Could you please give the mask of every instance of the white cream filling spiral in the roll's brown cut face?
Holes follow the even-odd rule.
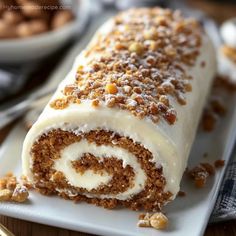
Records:
[[[98,158],[115,157],[122,160],[123,167],[126,167],[127,165],[131,166],[135,173],[133,186],[125,192],[121,192],[116,195],[86,194],[86,196],[126,200],[144,189],[147,177],[144,170],[141,168],[140,163],[137,161],[137,158],[132,153],[120,147],[112,147],[107,145],[97,146],[95,143],[89,143],[87,140],[81,140],[80,142],[67,146],[61,151],[61,158],[55,160],[54,162],[53,168],[57,171],[61,171],[72,186],[85,188],[90,191],[98,188],[102,184],[108,184],[112,179],[112,176],[106,172],[103,172],[102,174],[95,173],[92,170],[86,170],[83,174],[76,172],[76,170],[72,167],[71,162],[79,160],[84,153],[90,153]]]

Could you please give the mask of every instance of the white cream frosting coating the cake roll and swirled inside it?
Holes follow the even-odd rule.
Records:
[[[104,28],[108,30],[110,24],[110,21],[106,23],[97,34],[102,33]],[[91,43],[93,43],[93,41]],[[82,52],[76,59],[71,72],[59,85],[52,100],[62,96],[62,88],[66,84],[70,84],[74,81],[76,68],[81,64],[86,66],[86,60],[87,59],[85,59],[84,53]],[[201,66],[203,61],[206,62],[205,67]],[[158,124],[154,124],[149,119],[140,120],[128,111],[120,110],[118,108],[111,109],[104,104],[98,108],[94,108],[90,105],[90,101],[83,101],[81,104],[70,104],[69,107],[63,110],[55,110],[47,105],[26,136],[22,153],[24,174],[32,180],[33,175],[31,173],[32,163],[30,150],[33,143],[40,135],[56,128],[74,133],[89,132],[101,128],[108,131],[114,131],[121,136],[129,137],[134,142],[140,143],[148,149],[153,155],[152,161],[155,162],[157,166],[161,165],[163,167],[163,174],[166,179],[165,190],[170,191],[173,196],[175,196],[179,191],[180,181],[186,168],[190,148],[195,137],[197,125],[212,78],[215,74],[215,69],[214,48],[208,37],[204,35],[203,43],[200,48],[200,56],[197,59],[196,65],[193,67],[186,67],[187,73],[194,78],[191,81],[193,91],[186,94],[187,105],[182,106],[170,97],[170,102],[177,111],[177,121],[174,125],[169,125],[164,120],[160,120]],[[62,160],[58,160],[55,164],[58,170],[63,169],[62,166],[67,163],[65,155],[69,159],[79,158],[83,152],[88,151],[88,145],[82,145],[81,142],[74,145],[79,145],[80,147],[80,150],[76,151],[78,155],[75,156],[73,146],[69,146],[69,149],[66,149],[67,151],[62,153]],[[106,151],[107,155],[109,155],[113,152],[112,149],[113,148],[110,147],[104,147],[104,150],[95,148],[94,154],[99,156],[98,153]],[[114,149],[114,151],[115,150],[116,149]],[[125,152],[125,150],[122,151]],[[113,154],[117,158],[121,158],[119,152],[113,152]],[[125,158],[125,160],[123,158]],[[126,153],[121,159],[133,166],[137,164],[137,162],[133,162],[133,157],[130,156],[130,153]],[[67,168],[66,173],[68,173],[68,171]],[[143,183],[146,178],[145,174],[139,175],[139,173],[142,173],[142,170],[139,168],[137,168],[136,171],[137,179],[135,180],[135,183],[138,184],[138,179]],[[93,182],[92,180],[97,176],[95,177],[92,172],[87,172],[87,178],[74,174],[68,174],[67,178],[70,181],[75,181],[74,183],[78,185],[82,184],[83,181],[72,180],[73,178],[87,179],[87,183],[83,184],[84,186],[87,186],[86,188],[88,189],[92,186],[97,186],[99,182],[106,182],[110,178],[110,176],[105,176],[104,178],[99,177],[99,181],[95,180]],[[135,191],[140,191],[140,189],[138,190],[138,185],[137,189],[132,191],[128,192],[128,194],[127,192],[123,193],[126,194],[123,196],[116,196],[116,198],[121,197],[125,199],[129,197],[129,194],[131,196]],[[98,197],[102,198],[104,196],[99,195]]]

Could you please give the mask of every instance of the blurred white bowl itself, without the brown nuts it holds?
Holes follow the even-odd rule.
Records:
[[[22,63],[43,58],[79,35],[89,17],[90,1],[80,0],[75,19],[65,26],[25,39],[0,40],[0,63]],[[75,9],[73,9],[75,10]]]

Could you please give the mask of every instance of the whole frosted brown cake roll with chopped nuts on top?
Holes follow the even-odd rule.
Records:
[[[215,68],[195,20],[161,8],[119,13],[29,130],[24,174],[43,194],[160,210],[179,191]]]

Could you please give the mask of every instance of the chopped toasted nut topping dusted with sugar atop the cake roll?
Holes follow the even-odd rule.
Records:
[[[78,65],[75,82],[62,95],[66,101],[68,96],[81,102],[98,99],[102,106],[128,110],[140,119],[174,124],[177,113],[170,97],[186,104],[185,94],[192,90],[186,68],[196,62],[201,35],[198,23],[178,11],[120,13],[110,31],[98,33],[87,48],[86,64]]]

